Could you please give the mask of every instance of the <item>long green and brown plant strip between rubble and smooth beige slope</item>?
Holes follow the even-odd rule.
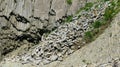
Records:
[[[106,0],[107,1],[107,0]],[[95,40],[106,29],[112,18],[120,11],[120,0],[117,2],[111,1],[110,6],[106,8],[104,19],[92,23],[92,30],[85,32],[84,41],[89,43]]]

